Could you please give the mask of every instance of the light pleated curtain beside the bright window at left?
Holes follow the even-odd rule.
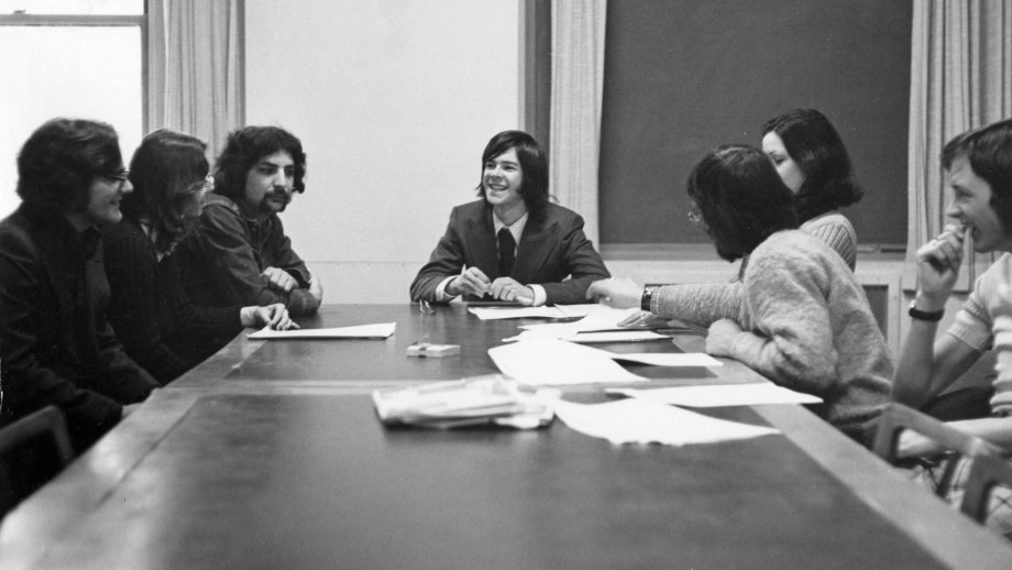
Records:
[[[243,0],[147,0],[147,128],[208,143],[218,155],[244,119]]]

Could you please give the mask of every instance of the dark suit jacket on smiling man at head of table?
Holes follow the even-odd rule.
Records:
[[[476,200],[453,208],[447,233],[440,238],[415,282],[411,300],[436,300],[436,287],[463,266],[476,266],[490,279],[499,277],[498,250],[492,207]],[[524,285],[541,285],[548,304],[586,303],[591,283],[609,277],[594,244],[583,234],[583,218],[548,204],[527,219],[517,248],[517,260],[508,275]],[[565,279],[566,276],[572,278]]]

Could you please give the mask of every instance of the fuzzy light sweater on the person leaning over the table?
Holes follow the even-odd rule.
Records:
[[[664,317],[674,317],[666,308],[675,287],[654,293]],[[744,331],[732,355],[777,384],[822,397],[826,420],[870,442],[894,366],[854,272],[822,240],[784,230],[752,251],[740,287],[732,318]]]

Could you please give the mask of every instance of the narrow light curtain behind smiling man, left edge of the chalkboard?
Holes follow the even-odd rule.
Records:
[[[597,241],[597,164],[607,0],[552,0],[549,188]]]

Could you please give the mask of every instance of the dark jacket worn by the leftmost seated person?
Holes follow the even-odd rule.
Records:
[[[23,204],[0,222],[0,425],[55,404],[81,450],[161,385],[123,352],[108,302],[97,230]]]

